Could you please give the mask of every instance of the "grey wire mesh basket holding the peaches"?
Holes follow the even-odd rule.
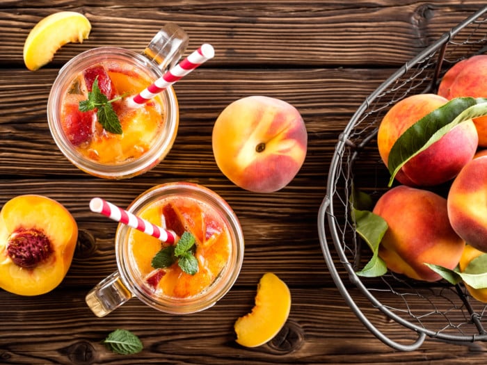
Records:
[[[471,298],[462,284],[453,286],[445,280],[417,282],[390,271],[376,278],[358,277],[356,271],[372,252],[350,219],[352,184],[373,197],[383,194],[390,176],[378,155],[376,132],[385,113],[404,97],[436,92],[452,65],[486,51],[487,6],[442,35],[369,95],[341,133],[330,163],[318,216],[326,264],[354,314],[378,339],[397,350],[416,350],[428,336],[453,343],[486,341],[487,305]],[[411,330],[412,339],[394,341],[385,332],[397,334],[397,328],[379,330],[369,320],[377,317],[376,311],[392,319],[394,327]]]

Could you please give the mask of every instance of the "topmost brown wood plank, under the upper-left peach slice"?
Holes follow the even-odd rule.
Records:
[[[47,2],[49,3],[49,2]],[[132,6],[99,3],[60,3],[56,10],[75,10],[94,24],[90,39],[67,44],[49,67],[59,67],[79,52],[116,45],[141,51],[165,22],[182,26],[190,35],[190,49],[209,42],[216,49],[214,65],[276,67],[276,65],[401,65],[426,45],[484,6],[483,1],[402,2],[239,1],[204,3],[153,1]],[[8,6],[8,8],[6,8]],[[10,10],[13,9],[13,10]],[[0,44],[0,64],[22,65],[22,46],[30,29],[53,13],[51,3],[4,1],[0,30],[8,41]],[[258,14],[258,16],[257,16]],[[312,16],[310,16],[312,14]],[[438,21],[437,19],[441,19]],[[319,31],[317,31],[319,29]],[[282,36],[285,35],[285,36]],[[371,47],[371,45],[374,47]]]

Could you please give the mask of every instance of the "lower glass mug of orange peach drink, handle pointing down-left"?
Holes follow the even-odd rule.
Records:
[[[139,195],[127,211],[173,231],[179,240],[164,243],[120,224],[115,236],[118,270],[86,296],[97,316],[133,297],[166,313],[193,313],[214,305],[233,286],[244,259],[244,236],[237,216],[220,195],[199,184],[161,184]],[[196,262],[194,272],[177,255],[165,266],[154,265],[162,250],[177,252],[187,235],[193,239],[186,252]]]

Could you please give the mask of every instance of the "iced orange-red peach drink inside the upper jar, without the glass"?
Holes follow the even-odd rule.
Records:
[[[80,111],[97,80],[99,90],[109,100],[136,95],[151,79],[129,63],[106,60],[79,72],[61,95],[61,127],[74,149],[96,163],[118,165],[147,153],[163,130],[164,104],[158,95],[140,108],[129,108],[126,99],[112,102],[122,133],[106,131],[97,120],[96,110]]]

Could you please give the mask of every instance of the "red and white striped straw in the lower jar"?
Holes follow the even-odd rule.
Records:
[[[94,213],[102,213],[116,222],[123,223],[129,227],[138,229],[145,234],[159,238],[161,241],[172,245],[176,241],[176,234],[169,229],[163,229],[158,225],[154,225],[148,220],[135,216],[134,214],[119,208],[111,202],[107,202],[100,197],[94,197],[90,201],[90,210]]]

